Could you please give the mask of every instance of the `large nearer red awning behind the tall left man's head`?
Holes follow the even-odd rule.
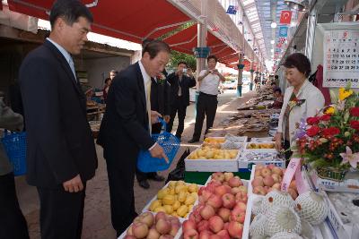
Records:
[[[8,0],[13,12],[48,20],[54,0]],[[141,43],[144,38],[162,34],[190,21],[185,13],[165,0],[83,0],[93,14],[94,32]],[[93,6],[92,6],[93,5]]]

